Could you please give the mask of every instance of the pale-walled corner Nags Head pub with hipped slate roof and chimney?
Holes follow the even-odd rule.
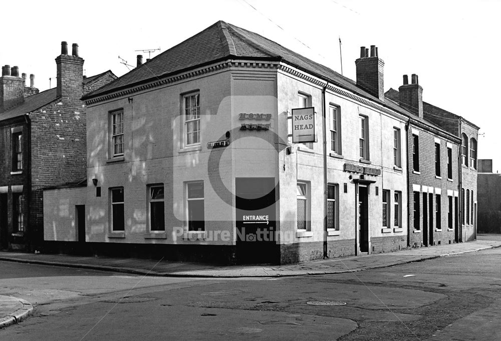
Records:
[[[45,190],[47,247],[228,263],[407,247],[413,113],[385,100],[383,65],[371,46],[355,82],[223,21],[138,62],[83,98],[87,186]],[[299,108],[317,142],[293,143]]]

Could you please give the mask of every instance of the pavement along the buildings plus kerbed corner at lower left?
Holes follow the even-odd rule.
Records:
[[[355,272],[500,246],[501,235],[478,234],[477,240],[469,242],[287,265],[214,265],[139,258],[86,257],[22,252],[0,252],[0,260],[170,277],[283,277]],[[0,317],[0,328],[19,322],[32,312],[33,307],[29,302],[16,297],[0,295],[0,316],[5,316]]]

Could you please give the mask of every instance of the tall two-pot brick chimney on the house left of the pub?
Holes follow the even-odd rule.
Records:
[[[80,100],[83,94],[84,59],[78,56],[78,44],[72,45],[72,55],[68,55],[68,44],[61,42],[61,55],[56,58],[57,96],[63,99]]]

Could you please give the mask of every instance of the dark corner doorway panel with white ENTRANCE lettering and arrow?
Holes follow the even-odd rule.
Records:
[[[236,259],[238,263],[278,263],[275,178],[237,177]]]

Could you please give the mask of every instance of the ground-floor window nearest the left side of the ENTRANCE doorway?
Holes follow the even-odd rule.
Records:
[[[186,215],[188,231],[205,230],[203,181],[186,182]]]

